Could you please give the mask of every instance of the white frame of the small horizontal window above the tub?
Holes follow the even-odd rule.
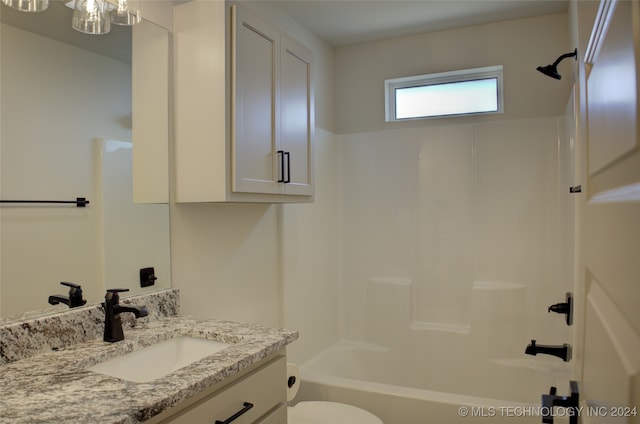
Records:
[[[463,83],[484,79],[496,79],[497,110],[483,112],[461,112],[442,115],[415,116],[410,118],[396,117],[396,90],[411,87],[427,87],[451,83]],[[457,71],[439,72],[435,74],[416,75],[411,77],[392,78],[384,81],[385,122],[404,122],[417,119],[437,119],[460,116],[493,115],[504,113],[504,84],[502,65],[482,68],[461,69]]]

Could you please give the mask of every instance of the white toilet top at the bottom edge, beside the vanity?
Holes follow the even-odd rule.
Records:
[[[289,407],[289,424],[384,424],[371,412],[338,402],[305,401]]]

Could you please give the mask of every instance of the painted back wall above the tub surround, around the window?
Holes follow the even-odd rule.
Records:
[[[572,63],[558,67],[556,81],[536,71],[572,51],[566,14],[497,22],[393,38],[336,49],[336,132],[558,116],[570,89]],[[435,72],[503,65],[503,115],[384,122],[384,80]]]

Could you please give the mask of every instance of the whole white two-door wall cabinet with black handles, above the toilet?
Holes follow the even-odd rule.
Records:
[[[309,49],[251,10],[175,9],[176,200],[309,202]]]

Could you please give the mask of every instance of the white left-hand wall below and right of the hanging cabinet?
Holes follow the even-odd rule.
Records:
[[[173,205],[173,281],[186,314],[299,330],[298,361],[338,337],[333,49],[278,9],[242,3],[313,51],[315,202]]]

